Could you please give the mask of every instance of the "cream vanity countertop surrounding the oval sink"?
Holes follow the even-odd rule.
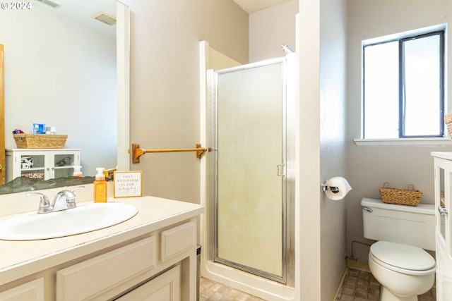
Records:
[[[159,197],[109,198],[108,202],[131,204],[138,208],[138,214],[109,228],[64,238],[0,240],[0,285],[191,219],[204,212],[202,205]],[[90,202],[78,205],[88,203]],[[19,214],[1,216],[0,222],[17,215]]]

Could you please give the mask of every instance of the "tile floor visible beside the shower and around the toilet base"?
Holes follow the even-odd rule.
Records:
[[[201,277],[200,301],[265,301]],[[369,271],[348,269],[335,301],[378,301],[381,285]],[[436,290],[418,297],[419,301],[435,301]]]

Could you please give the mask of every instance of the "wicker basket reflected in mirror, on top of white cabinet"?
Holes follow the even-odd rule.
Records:
[[[63,149],[68,135],[13,134],[19,149]]]

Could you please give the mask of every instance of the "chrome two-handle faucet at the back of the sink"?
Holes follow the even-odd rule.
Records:
[[[27,192],[25,195],[27,197],[32,197],[35,195],[40,196],[40,207],[37,209],[37,214],[61,211],[66,209],[76,208],[76,195],[73,193],[74,190],[83,189],[85,186],[78,186],[71,190],[61,190],[55,195],[52,204],[49,202],[47,195],[40,192]]]

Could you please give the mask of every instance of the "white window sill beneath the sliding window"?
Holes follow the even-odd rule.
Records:
[[[436,146],[452,145],[449,137],[444,138],[399,138],[399,139],[355,139],[355,145],[369,147],[389,146]]]

